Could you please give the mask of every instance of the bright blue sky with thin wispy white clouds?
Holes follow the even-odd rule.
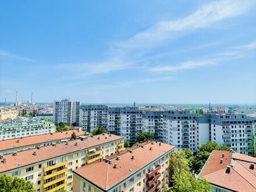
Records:
[[[256,103],[256,2],[5,1],[0,101]]]

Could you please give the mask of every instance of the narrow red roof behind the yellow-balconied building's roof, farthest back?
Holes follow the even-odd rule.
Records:
[[[82,136],[84,135],[84,131],[74,131],[77,136]],[[67,134],[66,134],[67,133]],[[53,134],[40,134],[37,136],[29,136],[29,137],[23,137],[23,138],[15,138],[15,139],[10,139],[10,140],[3,140],[0,141],[0,152],[2,150],[8,150],[11,148],[15,147],[23,147],[26,145],[33,145],[33,144],[38,144],[38,143],[44,143],[46,141],[54,141],[54,140],[61,140],[65,138],[70,138],[71,134],[73,133],[73,130],[71,131],[63,131],[53,133]],[[19,140],[19,143],[17,143],[17,140]]]

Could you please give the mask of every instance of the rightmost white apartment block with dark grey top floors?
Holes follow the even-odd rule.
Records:
[[[254,119],[243,114],[225,114],[211,115],[209,120],[212,141],[251,155],[253,133],[256,131]]]

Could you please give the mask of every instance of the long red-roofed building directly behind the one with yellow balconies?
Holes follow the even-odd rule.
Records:
[[[63,143],[70,140],[73,131],[76,133],[77,137],[84,136],[85,133],[84,131],[71,130],[3,140],[0,141],[0,154],[10,154],[37,147],[45,147],[52,144]]]

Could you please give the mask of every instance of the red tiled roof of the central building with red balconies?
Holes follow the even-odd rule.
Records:
[[[153,150],[150,150],[150,147]],[[144,148],[137,147],[132,153],[126,152],[119,154],[120,159],[112,158],[111,164],[99,161],[76,169],[74,173],[77,173],[77,175],[102,190],[109,190],[116,186],[116,184],[122,182],[122,180],[133,175],[134,172],[144,168],[144,166],[174,148],[175,146],[173,145],[163,143],[161,145],[158,143],[154,143],[153,145],[148,143],[144,145]],[[134,155],[134,159],[131,159],[131,155]],[[117,164],[117,168],[113,168],[115,163]]]

